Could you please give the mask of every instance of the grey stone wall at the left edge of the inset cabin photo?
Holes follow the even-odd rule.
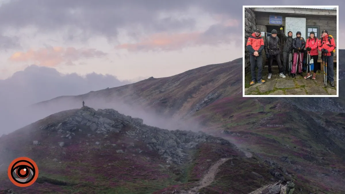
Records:
[[[244,56],[244,61],[245,61],[245,70],[247,70],[250,67],[250,62],[249,62],[249,51],[246,47],[247,45],[247,40],[250,35],[254,32],[256,28],[256,16],[253,11],[253,8],[245,8],[245,13],[244,13],[244,47],[245,47],[245,56]]]

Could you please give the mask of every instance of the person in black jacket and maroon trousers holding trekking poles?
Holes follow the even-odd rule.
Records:
[[[305,40],[301,37],[301,32],[296,33],[296,38],[294,38],[292,42],[292,47],[294,48],[294,62],[292,64],[291,75],[294,78],[296,76],[297,71],[297,62],[298,62],[298,73],[300,76],[303,77],[303,56],[304,56],[304,47],[305,47]]]

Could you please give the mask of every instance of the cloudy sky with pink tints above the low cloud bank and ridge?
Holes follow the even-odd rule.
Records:
[[[36,64],[64,74],[96,72],[138,80],[242,56],[238,44],[242,43],[243,4],[233,1],[0,2],[0,79]],[[302,1],[287,3],[303,5]]]

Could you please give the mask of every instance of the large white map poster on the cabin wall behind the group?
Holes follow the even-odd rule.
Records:
[[[307,39],[306,37],[306,18],[285,18],[285,35],[287,36],[287,32],[292,31],[292,38],[296,38],[296,33],[298,31],[301,32],[301,36],[304,40]]]

